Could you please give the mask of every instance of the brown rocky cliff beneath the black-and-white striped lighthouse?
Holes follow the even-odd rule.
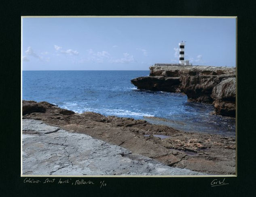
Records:
[[[189,102],[213,104],[215,114],[235,117],[234,67],[151,66],[150,76],[132,79],[138,89],[183,92]]]

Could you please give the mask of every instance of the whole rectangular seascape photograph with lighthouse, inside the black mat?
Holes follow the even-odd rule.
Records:
[[[236,17],[21,20],[21,176],[236,175]]]

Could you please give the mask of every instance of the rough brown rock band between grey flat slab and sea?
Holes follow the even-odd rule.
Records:
[[[187,133],[145,120],[94,112],[77,114],[47,102],[23,101],[22,114],[23,120],[40,120],[68,133],[89,135],[169,167],[206,174],[235,174],[234,137]],[[25,130],[24,134],[29,132]]]

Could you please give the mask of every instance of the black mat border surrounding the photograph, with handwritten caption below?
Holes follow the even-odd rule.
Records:
[[[255,1],[49,1],[2,2],[1,171],[4,196],[253,196],[255,189]],[[238,176],[210,187],[213,178],[104,178],[108,186],[30,185],[20,177],[21,16],[237,16]],[[45,179],[45,178],[44,178]],[[99,181],[102,178],[90,178]]]

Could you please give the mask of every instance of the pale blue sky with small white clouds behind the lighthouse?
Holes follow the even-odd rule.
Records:
[[[236,65],[234,18],[23,18],[22,69],[148,70],[181,41],[193,65]]]

